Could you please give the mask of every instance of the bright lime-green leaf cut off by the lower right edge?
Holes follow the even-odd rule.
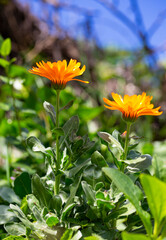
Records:
[[[142,174],[140,176],[151,213],[158,223],[166,217],[166,183],[159,179]]]

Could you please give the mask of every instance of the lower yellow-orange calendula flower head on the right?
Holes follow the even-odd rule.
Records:
[[[104,105],[111,110],[119,110],[122,112],[123,119],[128,122],[134,122],[138,117],[143,115],[158,116],[163,112],[159,112],[160,107],[153,108],[154,105],[150,103],[153,97],[142,95],[125,95],[124,98],[117,93],[112,93],[114,101],[103,98],[104,102],[109,105]]]

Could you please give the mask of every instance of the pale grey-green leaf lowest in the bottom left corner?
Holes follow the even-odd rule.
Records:
[[[8,223],[5,230],[11,235],[26,235],[26,227],[22,223]]]

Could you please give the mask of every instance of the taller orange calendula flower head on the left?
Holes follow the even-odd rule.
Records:
[[[66,87],[66,83],[73,80],[89,83],[87,81],[74,78],[82,75],[85,71],[85,65],[81,69],[81,63],[77,62],[77,60],[71,59],[68,66],[66,60],[53,63],[45,63],[42,61],[36,63],[36,65],[37,67],[33,67],[29,70],[29,72],[50,79],[55,89],[64,89]]]

